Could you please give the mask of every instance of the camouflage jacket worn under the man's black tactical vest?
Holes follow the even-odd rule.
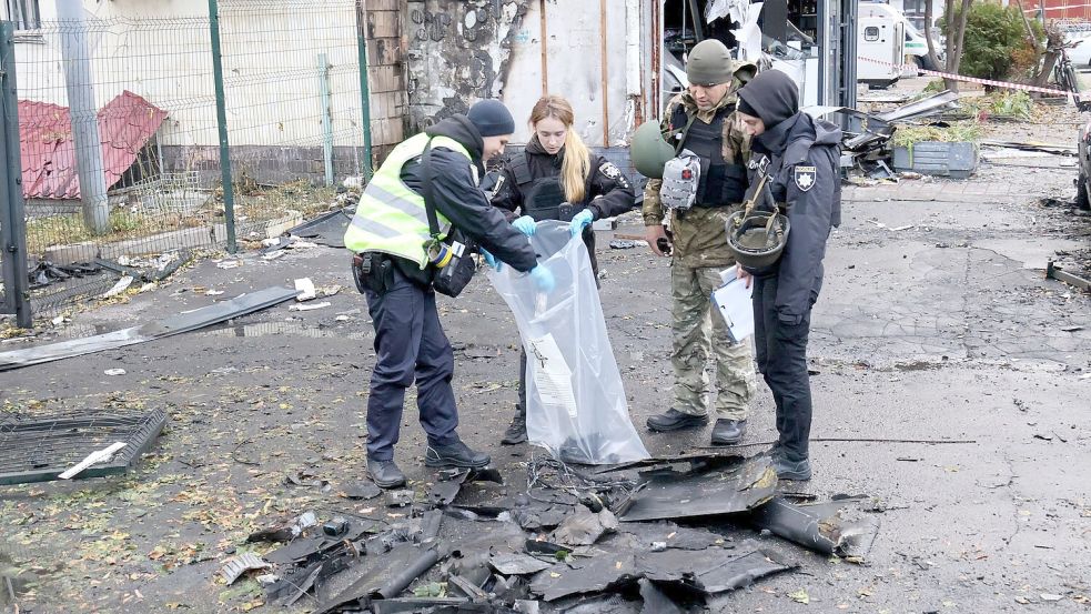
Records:
[[[716,112],[726,105],[735,105],[738,101],[736,95],[737,88],[724,97],[718,105],[707,111],[697,109],[697,103],[688,92],[676,95],[667,104],[664,113],[661,128],[665,133],[679,130],[681,127],[671,127],[670,117],[674,114],[678,104],[685,105],[687,115],[697,115],[699,121],[710,122]],[[724,160],[728,163],[746,164],[750,161],[750,137],[743,130],[738,113],[733,111],[724,120]],[[644,189],[644,224],[656,225],[664,222],[665,211],[659,203],[659,187],[661,180],[653,179],[648,181]],[[684,266],[728,266],[735,263],[731,252],[727,248],[727,233],[725,224],[727,218],[738,209],[738,203],[731,207],[718,207],[711,209],[691,208],[681,213],[674,213],[668,220],[671,240],[674,242],[674,258]]]

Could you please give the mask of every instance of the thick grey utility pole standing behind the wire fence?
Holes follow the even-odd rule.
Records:
[[[94,102],[94,77],[83,2],[57,0],[57,17],[63,23],[61,58],[75,148],[75,170],[80,178],[80,198],[83,200],[83,222],[94,234],[104,234],[110,230],[110,204],[107,202],[102,140],[99,138],[99,113]]]

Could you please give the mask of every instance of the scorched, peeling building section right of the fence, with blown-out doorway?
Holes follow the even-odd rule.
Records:
[[[856,0],[411,0],[404,3],[406,132],[498,98],[518,121],[545,93],[566,97],[596,148],[624,147],[686,87],[706,38],[791,74],[807,104],[855,105]],[[851,61],[850,61],[851,59]]]

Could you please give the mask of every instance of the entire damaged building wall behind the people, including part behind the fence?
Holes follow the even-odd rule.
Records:
[[[337,174],[351,174],[365,162],[364,118],[375,165],[406,135],[482,98],[513,110],[514,142],[523,143],[522,120],[545,93],[569,99],[589,145],[618,148],[624,159],[632,131],[658,119],[685,88],[686,53],[705,38],[789,72],[805,104],[853,105],[847,59],[855,56],[856,0],[340,0],[321,10],[287,3],[299,4],[299,19],[284,8],[262,14],[236,0],[219,3],[232,158],[253,160],[246,170],[269,182],[321,177],[325,145]],[[150,141],[165,170],[214,178],[220,139],[208,2],[81,4],[90,77],[100,82],[97,108],[122,90],[142,97],[168,114]],[[61,34],[70,30],[59,26],[51,2],[37,17],[17,37],[20,99],[64,108]],[[261,41],[253,39],[254,20],[267,30]],[[357,34],[365,54],[357,53]]]

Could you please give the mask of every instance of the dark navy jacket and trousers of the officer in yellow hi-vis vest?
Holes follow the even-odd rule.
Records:
[[[474,124],[465,115],[454,115],[427,133],[449,137],[464,145],[474,159],[473,168],[477,169],[475,173],[466,157],[458,152],[432,149],[430,163],[436,211],[517,271],[533,269],[537,260],[526,236],[491,207],[476,187],[474,174],[482,173],[483,142]],[[420,160],[403,165],[401,178],[410,190],[424,193]],[[385,256],[375,264],[376,270],[385,271],[383,283],[378,284],[381,290],[362,289],[375,326],[376,354],[367,397],[367,455],[388,461],[398,440],[405,390],[414,381],[421,425],[430,445],[451,445],[458,441],[455,434],[458,412],[451,387],[454,356],[440,324],[435,291],[427,276],[431,271],[422,273],[416,263],[397,256]]]

